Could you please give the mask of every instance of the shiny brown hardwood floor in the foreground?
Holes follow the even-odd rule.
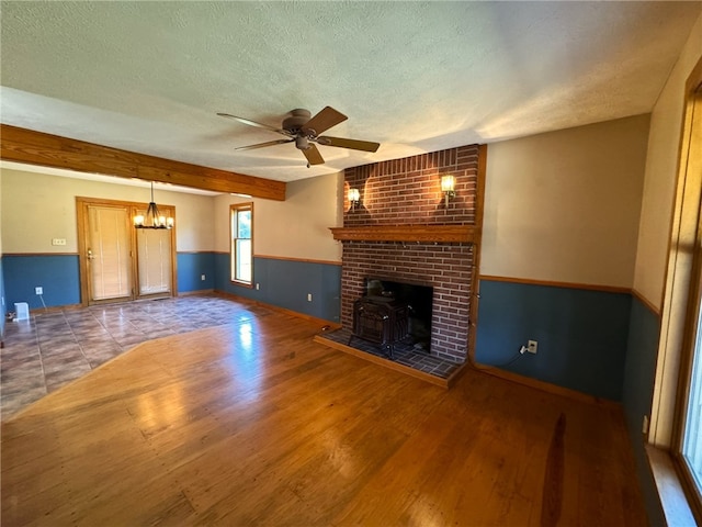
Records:
[[[642,526],[619,408],[451,390],[282,313],[144,343],[2,424],[2,525]]]

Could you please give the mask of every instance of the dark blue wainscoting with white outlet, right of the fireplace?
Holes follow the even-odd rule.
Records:
[[[621,401],[631,303],[626,293],[480,280],[476,361]],[[530,339],[539,352],[519,356]]]

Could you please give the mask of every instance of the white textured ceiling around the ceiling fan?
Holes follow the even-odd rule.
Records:
[[[281,181],[649,112],[702,2],[63,2],[1,9],[2,123]],[[331,105],[306,168],[280,126]]]

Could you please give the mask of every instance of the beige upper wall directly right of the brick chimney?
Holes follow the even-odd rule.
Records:
[[[480,273],[631,288],[648,121],[489,145]]]

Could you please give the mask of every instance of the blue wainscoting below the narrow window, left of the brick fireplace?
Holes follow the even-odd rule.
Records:
[[[253,258],[253,283],[245,288],[229,280],[229,255],[216,255],[215,289],[316,318],[340,321],[341,266],[279,258]],[[307,301],[312,294],[312,302]]]

